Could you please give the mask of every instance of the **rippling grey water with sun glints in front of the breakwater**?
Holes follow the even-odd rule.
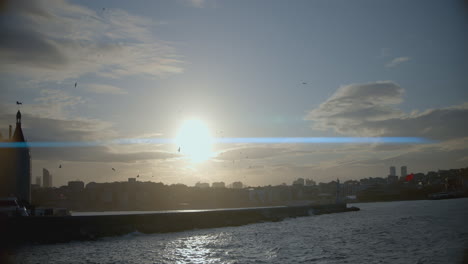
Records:
[[[18,263],[462,263],[468,199],[358,204],[276,223],[26,246]]]

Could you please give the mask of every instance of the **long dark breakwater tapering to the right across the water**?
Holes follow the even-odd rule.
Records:
[[[165,233],[239,226],[285,218],[359,210],[346,204],[158,212],[130,215],[30,216],[0,218],[1,244],[92,240],[131,232]],[[1,245],[0,245],[1,246]]]

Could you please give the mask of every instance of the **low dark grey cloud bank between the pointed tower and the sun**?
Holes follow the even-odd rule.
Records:
[[[28,114],[23,114],[22,120],[23,133],[29,142],[92,142],[115,137],[112,128],[98,120],[60,120]],[[0,115],[2,130],[7,129],[11,121],[14,121],[14,115]],[[117,152],[107,146],[32,148],[31,155],[34,160],[76,162],[135,162],[177,157],[174,153],[161,151]]]

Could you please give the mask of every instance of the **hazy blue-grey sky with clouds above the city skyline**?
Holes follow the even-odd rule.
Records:
[[[107,142],[32,147],[32,176],[55,186],[467,167],[467,26],[464,1],[3,0],[0,132],[20,109],[30,143]],[[208,143],[246,137],[428,141]]]

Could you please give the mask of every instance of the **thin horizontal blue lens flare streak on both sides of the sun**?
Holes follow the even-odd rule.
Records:
[[[221,144],[430,144],[437,141],[421,137],[239,137],[213,138]],[[68,148],[95,147],[128,144],[177,144],[171,138],[116,139],[107,141],[65,141],[65,142],[0,142],[0,148]]]

